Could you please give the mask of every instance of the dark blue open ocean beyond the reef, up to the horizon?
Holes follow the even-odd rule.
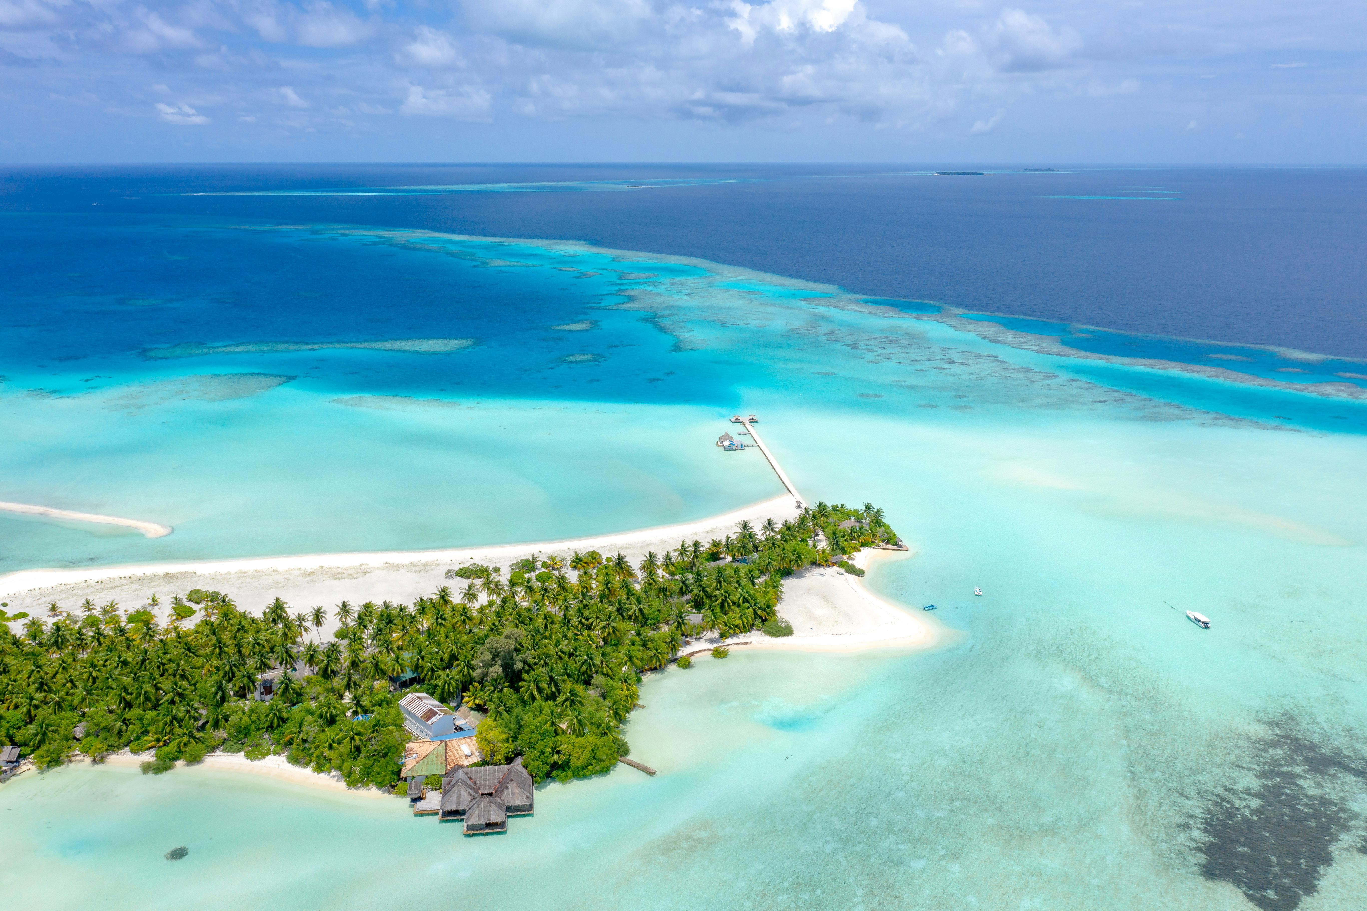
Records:
[[[1364,170],[1110,168],[982,178],[894,171],[8,170],[0,174],[0,209],[90,212],[96,220],[108,213],[175,213],[581,239],[744,265],[871,297],[1367,358]],[[703,182],[621,186],[652,179]],[[735,182],[714,182],[723,179]],[[618,185],[599,193],[540,186],[529,193],[175,196],[548,182]]]

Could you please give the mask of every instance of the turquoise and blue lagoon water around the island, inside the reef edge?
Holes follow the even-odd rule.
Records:
[[[0,520],[5,569],[700,517],[778,492],[711,445],[745,409],[809,499],[887,509],[916,553],[871,584],[964,635],[655,674],[627,736],[658,777],[547,785],[489,839],[202,769],[25,776],[0,788],[15,904],[1360,907],[1363,402],[577,243],[122,230],[120,280],[12,298],[3,499],[176,532]],[[319,347],[394,339],[470,343]]]

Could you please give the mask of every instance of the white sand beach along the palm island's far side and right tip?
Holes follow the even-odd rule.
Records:
[[[242,610],[260,611],[276,596],[294,610],[323,605],[329,611],[342,600],[410,602],[439,585],[461,588],[463,580],[446,579],[446,570],[470,562],[507,566],[529,554],[567,558],[574,551],[625,553],[633,564],[648,553],[674,550],[682,540],[723,538],[737,523],[749,520],[759,527],[767,518],[783,521],[797,514],[791,497],[749,506],[692,523],[644,528],[593,538],[489,547],[461,547],[427,551],[380,551],[354,554],[305,554],[247,559],[216,559],[183,564],[97,566],[83,569],[25,569],[0,577],[0,598],[8,610],[40,613],[51,602],[74,609],[83,599],[97,603],[115,600],[123,607],[144,605],[153,594],[163,602],[191,588],[221,591]],[[856,565],[874,568],[887,558],[908,553],[867,550]],[[163,609],[164,610],[164,609]],[[807,651],[863,651],[869,648],[931,648],[949,633],[919,611],[879,598],[856,576],[838,569],[807,569],[783,581],[779,613],[793,624],[793,636],[771,639],[763,633],[733,637],[750,648]],[[336,621],[323,626],[329,635]],[[319,633],[314,632],[314,636]],[[699,643],[701,647],[703,643]]]

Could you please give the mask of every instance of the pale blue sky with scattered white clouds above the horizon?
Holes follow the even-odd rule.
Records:
[[[1367,163],[1360,0],[0,0],[0,161]]]

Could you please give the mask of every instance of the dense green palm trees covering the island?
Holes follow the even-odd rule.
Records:
[[[411,605],[342,602],[260,616],[194,588],[127,611],[86,599],[0,624],[0,743],[40,769],[74,754],[146,755],[144,771],[209,752],[283,756],[349,787],[392,788],[410,730],[399,700],[416,689],[476,709],[478,756],[519,761],[536,781],[611,769],[627,752],[622,724],[642,672],[688,666],[685,640],[715,631],[791,636],[778,616],[783,577],[808,566],[861,576],[846,554],[905,550],[883,510],[817,503],[794,518],[735,524],[722,540],[681,540],[638,565],[595,550],[525,557],[504,570],[450,569]],[[314,637],[309,637],[309,632]],[[725,657],[718,646],[714,657]],[[21,755],[5,754],[7,771]],[[472,763],[480,765],[480,762]]]

